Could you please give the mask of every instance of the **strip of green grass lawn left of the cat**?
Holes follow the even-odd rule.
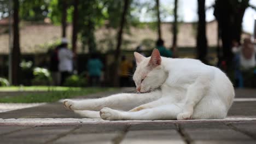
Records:
[[[0,103],[44,103],[60,99],[73,98],[80,95],[104,91],[114,91],[117,88],[74,88],[74,87],[0,87],[0,92],[28,91],[27,94],[0,97]],[[29,91],[45,91],[45,93],[29,93]]]

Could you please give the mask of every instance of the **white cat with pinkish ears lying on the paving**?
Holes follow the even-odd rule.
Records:
[[[67,109],[88,118],[138,119],[223,119],[234,99],[234,87],[218,68],[196,59],[151,57],[134,53],[133,75],[137,91],[100,99],[64,100]],[[100,112],[98,112],[100,111]]]

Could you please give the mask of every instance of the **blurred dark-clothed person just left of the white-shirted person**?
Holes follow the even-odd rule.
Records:
[[[50,56],[50,71],[51,77],[53,79],[53,85],[59,86],[61,82],[61,74],[59,71],[59,58],[58,58],[58,50],[60,45],[56,46],[53,51],[51,51]]]

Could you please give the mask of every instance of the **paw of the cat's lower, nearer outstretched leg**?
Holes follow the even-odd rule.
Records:
[[[121,119],[119,111],[110,109],[108,107],[103,107],[103,109],[101,109],[100,111],[100,115],[101,115],[101,118],[105,120]]]

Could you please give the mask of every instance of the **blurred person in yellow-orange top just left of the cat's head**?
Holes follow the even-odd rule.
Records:
[[[130,71],[132,70],[132,63],[129,62],[125,56],[121,58],[120,64],[120,86],[121,87],[129,87],[130,86]]]

